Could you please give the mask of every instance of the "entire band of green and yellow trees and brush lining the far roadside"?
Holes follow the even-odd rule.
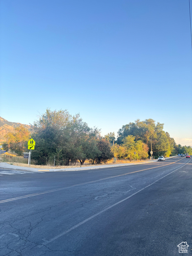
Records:
[[[31,129],[15,128],[5,136],[3,149],[9,149],[16,156],[9,155],[12,162],[27,163],[23,152],[27,152],[27,141],[33,138],[36,142],[32,150],[31,161],[37,165],[74,166],[86,164],[104,164],[125,160],[141,160],[150,156],[169,157],[181,153],[192,154],[190,146],[177,145],[174,138],[163,130],[164,124],[146,119],[123,125],[115,133],[110,132],[104,137],[96,127],[90,128],[80,115],[70,115],[67,110],[46,112],[31,125]],[[3,161],[6,162],[3,156]],[[22,160],[21,160],[22,159]],[[10,161],[9,161],[10,162]]]

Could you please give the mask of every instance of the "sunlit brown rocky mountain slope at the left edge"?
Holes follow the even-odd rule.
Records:
[[[4,136],[7,135],[7,133],[13,132],[14,128],[16,128],[20,125],[23,125],[27,129],[30,128],[30,125],[9,122],[9,121],[5,120],[4,118],[0,117],[0,144],[2,144],[2,142],[5,141]]]

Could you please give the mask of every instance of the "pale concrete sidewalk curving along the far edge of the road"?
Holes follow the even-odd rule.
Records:
[[[171,158],[166,157],[165,159]],[[109,168],[109,167],[116,167],[116,166],[129,166],[129,165],[135,165],[135,164],[147,164],[147,163],[154,163],[156,160],[146,160],[145,162],[130,162],[126,164],[109,164],[109,165],[96,165],[96,166],[82,166],[82,167],[74,167],[74,168],[64,168],[64,169],[39,169],[39,168],[31,168],[31,167],[23,167],[23,166],[17,166],[17,165],[11,165],[8,163],[0,163],[0,168],[2,169],[13,169],[13,170],[23,170],[23,171],[44,171],[44,172],[64,172],[64,171],[80,171],[80,170],[91,170],[91,169],[102,169],[102,168]]]

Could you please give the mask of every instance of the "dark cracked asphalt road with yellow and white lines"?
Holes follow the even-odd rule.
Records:
[[[192,255],[191,160],[75,172],[0,170],[0,255],[174,256],[181,242]]]

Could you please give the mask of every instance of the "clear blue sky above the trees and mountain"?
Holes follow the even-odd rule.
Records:
[[[152,118],[192,146],[188,0],[0,2],[1,117],[67,109],[102,135]]]

